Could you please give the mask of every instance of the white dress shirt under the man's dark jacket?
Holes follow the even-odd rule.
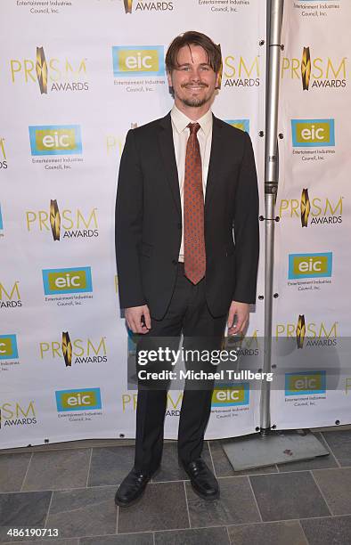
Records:
[[[208,110],[202,118],[192,121],[185,114],[173,106],[171,110],[173,142],[175,145],[175,162],[178,170],[180,201],[182,207],[182,224],[184,225],[184,174],[186,143],[189,138],[189,123],[199,123],[200,129],[197,133],[200,144],[200,156],[202,165],[202,191],[205,199],[206,183],[208,178],[208,164],[211,153],[212,142],[212,111]],[[179,251],[179,261],[184,261],[184,229],[182,231],[182,243]]]

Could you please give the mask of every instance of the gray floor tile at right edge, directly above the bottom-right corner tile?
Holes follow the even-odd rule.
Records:
[[[332,515],[351,515],[351,468],[321,469],[313,474]]]

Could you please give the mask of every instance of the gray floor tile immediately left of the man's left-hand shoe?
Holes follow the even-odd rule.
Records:
[[[93,449],[88,486],[120,484],[134,466],[134,446]]]

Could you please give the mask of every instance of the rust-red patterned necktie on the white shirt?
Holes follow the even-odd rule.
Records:
[[[206,252],[202,167],[197,132],[199,123],[189,123],[184,175],[184,272],[197,284],[205,276]]]

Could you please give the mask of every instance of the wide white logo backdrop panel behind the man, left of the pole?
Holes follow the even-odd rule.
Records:
[[[250,134],[262,190],[265,2],[4,0],[0,25],[0,443],[134,437],[114,250],[125,137],[172,107],[172,39],[205,32],[223,53],[214,113]],[[263,305],[241,343],[257,369]],[[216,388],[208,437],[255,431],[258,386]],[[168,438],[181,403],[171,390]]]

